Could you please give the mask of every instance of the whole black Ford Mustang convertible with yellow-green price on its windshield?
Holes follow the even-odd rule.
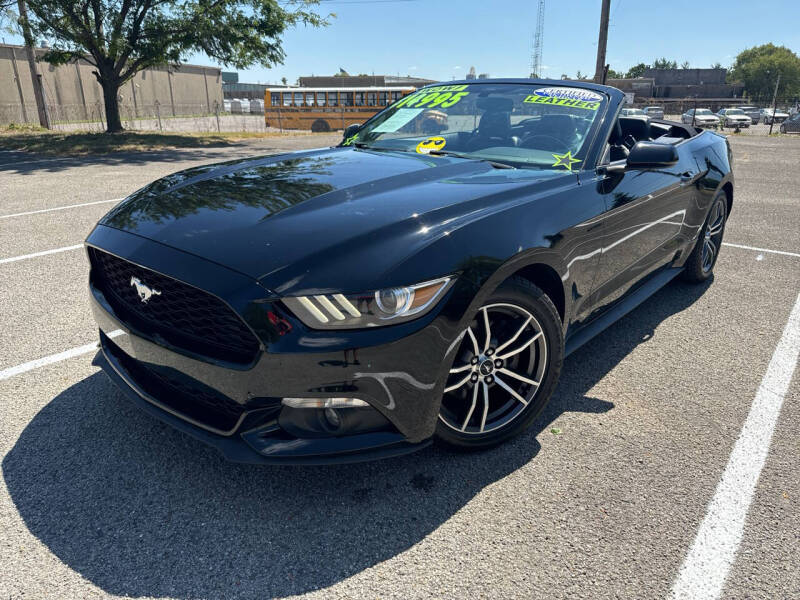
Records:
[[[87,239],[97,364],[243,462],[519,434],[564,357],[711,276],[724,137],[581,82],[422,88],[334,148],[189,169]]]

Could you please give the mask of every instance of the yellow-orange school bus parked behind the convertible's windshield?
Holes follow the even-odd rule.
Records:
[[[392,102],[416,91],[414,87],[267,88],[264,120],[267,127],[335,131],[363,123]]]

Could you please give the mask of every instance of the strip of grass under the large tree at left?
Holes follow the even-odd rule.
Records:
[[[143,152],[177,148],[221,148],[259,138],[286,137],[265,132],[122,133],[56,132],[38,127],[11,125],[0,129],[0,149],[22,150],[45,156],[80,156],[111,152]]]

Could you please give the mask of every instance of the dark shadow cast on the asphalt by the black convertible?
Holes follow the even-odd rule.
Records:
[[[587,392],[707,287],[668,286],[573,354],[534,427],[487,452],[432,447],[329,467],[226,463],[96,373],[25,428],[3,460],[5,483],[30,532],[107,593],[266,598],[323,589],[408,550],[524,467],[560,414],[611,410]]]

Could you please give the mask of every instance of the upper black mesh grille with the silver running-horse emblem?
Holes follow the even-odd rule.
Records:
[[[138,334],[192,354],[248,364],[258,340],[222,300],[171,277],[145,269],[107,252],[89,248],[92,284],[116,316]],[[160,292],[142,302],[132,281]]]

